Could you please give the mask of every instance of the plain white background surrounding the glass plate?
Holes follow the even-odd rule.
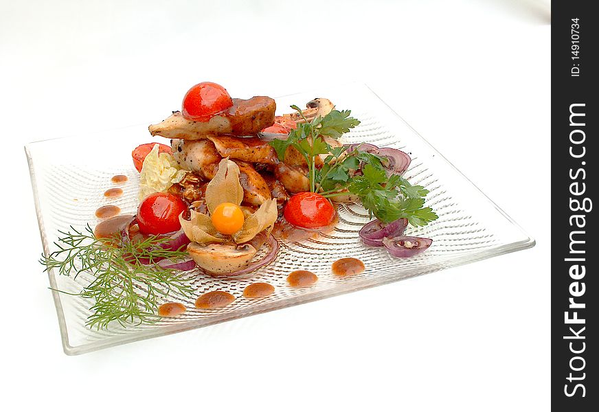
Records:
[[[549,409],[549,21],[547,1],[1,0],[0,404]],[[365,82],[537,245],[65,356],[36,262],[42,249],[23,145],[163,119],[204,80],[239,97]]]

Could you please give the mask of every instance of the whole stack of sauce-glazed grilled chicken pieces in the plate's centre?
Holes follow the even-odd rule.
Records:
[[[326,99],[311,100],[306,106],[306,114],[310,117],[324,116],[334,107]],[[282,205],[289,199],[289,194],[309,190],[304,157],[290,147],[284,161],[279,161],[268,139],[260,133],[275,122],[275,109],[275,101],[264,96],[233,99],[231,108],[207,122],[185,119],[177,111],[163,122],[150,126],[152,136],[171,139],[174,159],[182,169],[190,171],[170,191],[189,203],[203,200],[205,185],[212,180],[218,163],[225,157],[239,166],[246,206],[258,207],[271,198],[276,198]],[[284,115],[276,120],[289,125],[303,119]],[[277,137],[285,139],[286,135]],[[339,146],[337,141],[329,144]]]

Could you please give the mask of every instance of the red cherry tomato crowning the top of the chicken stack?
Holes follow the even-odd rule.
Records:
[[[202,82],[185,93],[183,117],[199,122],[207,122],[210,117],[233,106],[233,100],[220,84]]]

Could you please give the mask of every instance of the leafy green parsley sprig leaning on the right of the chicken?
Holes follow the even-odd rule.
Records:
[[[438,218],[433,209],[424,207],[429,191],[420,185],[411,185],[399,174],[390,174],[385,169],[388,161],[385,157],[360,150],[359,146],[351,151],[348,150],[350,146],[332,148],[322,139],[322,136],[337,139],[358,126],[360,121],[350,117],[350,111],[334,110],[310,122],[299,107],[291,108],[304,118],[305,123],[297,124],[286,140],[271,141],[271,146],[281,161],[284,161],[289,146],[306,159],[310,192],[329,198],[340,192],[354,194],[370,216],[383,222],[407,218],[410,225],[424,226]],[[327,155],[321,168],[315,165],[318,155]]]

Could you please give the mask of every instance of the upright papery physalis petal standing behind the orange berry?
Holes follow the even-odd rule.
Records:
[[[206,185],[206,205],[210,213],[221,203],[240,205],[243,188],[239,183],[239,167],[228,158],[218,163],[218,172]]]

